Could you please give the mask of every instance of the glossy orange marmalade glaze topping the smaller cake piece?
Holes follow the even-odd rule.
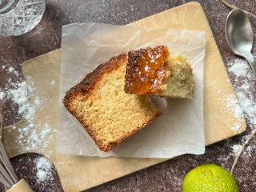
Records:
[[[126,66],[127,94],[162,94],[166,81],[169,50],[166,46],[133,50],[128,53]]]

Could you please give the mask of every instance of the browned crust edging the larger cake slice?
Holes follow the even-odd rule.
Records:
[[[113,150],[114,147],[118,146],[118,144],[124,141],[126,138],[129,138],[130,135],[135,134],[138,130],[141,130],[147,124],[152,122],[155,118],[160,115],[160,112],[152,115],[147,122],[143,122],[141,126],[136,127],[136,129],[132,130],[129,134],[123,135],[122,138],[116,139],[116,141],[111,142],[109,145],[104,145],[102,140],[98,138],[97,131],[94,130],[92,125],[88,125],[86,119],[83,117],[83,114],[78,112],[76,106],[74,106],[74,101],[77,100],[86,100],[94,93],[94,90],[97,89],[98,83],[102,80],[104,74],[110,73],[112,70],[118,70],[120,66],[126,65],[127,58],[126,54],[120,54],[116,57],[110,58],[110,60],[102,65],[98,66],[93,72],[86,75],[86,78],[79,82],[76,86],[72,87],[70,90],[66,92],[66,96],[63,99],[64,106],[66,110],[68,110],[71,114],[74,115],[75,118],[82,124],[90,137],[94,139],[94,142],[98,146],[98,148],[102,151],[110,151]],[[105,101],[107,102],[107,101]],[[107,111],[106,111],[107,112]]]

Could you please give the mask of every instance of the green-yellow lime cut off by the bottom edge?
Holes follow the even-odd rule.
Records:
[[[182,192],[239,192],[233,176],[221,166],[206,164],[190,170],[182,184]]]

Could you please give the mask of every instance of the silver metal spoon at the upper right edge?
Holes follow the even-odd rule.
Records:
[[[247,14],[242,10],[232,10],[226,18],[226,41],[234,54],[238,54],[250,63],[256,72],[256,60],[250,53],[253,47],[253,30]]]

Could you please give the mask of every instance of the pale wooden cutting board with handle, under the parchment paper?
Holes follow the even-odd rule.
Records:
[[[166,10],[149,18],[130,23],[130,25],[142,28],[177,28],[206,31],[206,58],[204,63],[206,146],[246,130],[245,119],[235,118],[234,113],[226,106],[227,97],[237,98],[214,41],[206,15],[198,2],[190,2]],[[59,85],[60,62],[60,50],[55,50],[38,58],[30,59],[22,66],[24,75],[32,77],[36,85],[39,85],[36,87],[36,89],[39,89],[38,93],[51,93],[51,98],[56,102],[58,101],[56,87]],[[55,79],[55,87],[47,86],[52,81],[51,77]],[[58,111],[53,110],[53,108],[58,107],[58,102],[50,107],[45,110],[52,113],[51,116],[54,121],[51,122],[51,126],[56,127]],[[240,130],[234,131],[232,128],[235,125],[240,126]],[[51,159],[58,170],[65,191],[86,190],[158,162],[166,161],[166,159],[154,158],[88,158],[67,154],[54,154]]]

